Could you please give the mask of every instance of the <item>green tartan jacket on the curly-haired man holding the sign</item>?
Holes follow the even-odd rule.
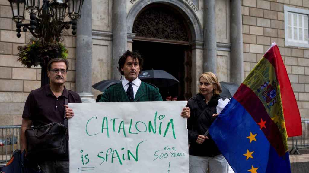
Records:
[[[133,101],[162,101],[162,96],[159,93],[159,88],[152,84],[141,82]],[[103,92],[99,102],[129,102],[129,98],[120,82],[108,87]]]

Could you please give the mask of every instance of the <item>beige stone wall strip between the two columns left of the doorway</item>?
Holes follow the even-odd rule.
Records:
[[[92,1],[92,85],[112,78],[112,0]],[[101,91],[92,89],[94,99]]]

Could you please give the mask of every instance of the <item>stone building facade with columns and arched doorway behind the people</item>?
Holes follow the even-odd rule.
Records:
[[[90,86],[120,79],[118,57],[138,50],[145,70],[173,74],[181,84],[169,92],[188,99],[204,71],[240,84],[276,42],[301,116],[309,119],[308,9],[309,0],[85,0],[77,35],[64,37],[70,62],[66,87],[93,102],[101,92]],[[0,0],[0,126],[21,124],[29,92],[40,87],[40,67],[16,61],[17,47],[31,34],[17,38],[11,17],[8,1]],[[164,96],[168,90],[160,91]]]

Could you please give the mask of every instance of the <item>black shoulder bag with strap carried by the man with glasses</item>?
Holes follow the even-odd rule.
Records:
[[[69,97],[68,97],[69,98]],[[68,105],[68,99],[65,98]],[[68,157],[69,133],[66,108],[64,109],[64,123],[49,123],[40,127],[33,127],[25,131],[27,139],[27,158],[40,160],[46,156]]]

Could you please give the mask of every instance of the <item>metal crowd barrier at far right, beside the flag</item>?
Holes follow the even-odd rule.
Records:
[[[290,154],[300,154],[299,149],[309,148],[309,119],[302,119],[303,135],[292,138],[292,149]],[[295,151],[294,151],[295,150]],[[294,151],[292,153],[292,151]]]

